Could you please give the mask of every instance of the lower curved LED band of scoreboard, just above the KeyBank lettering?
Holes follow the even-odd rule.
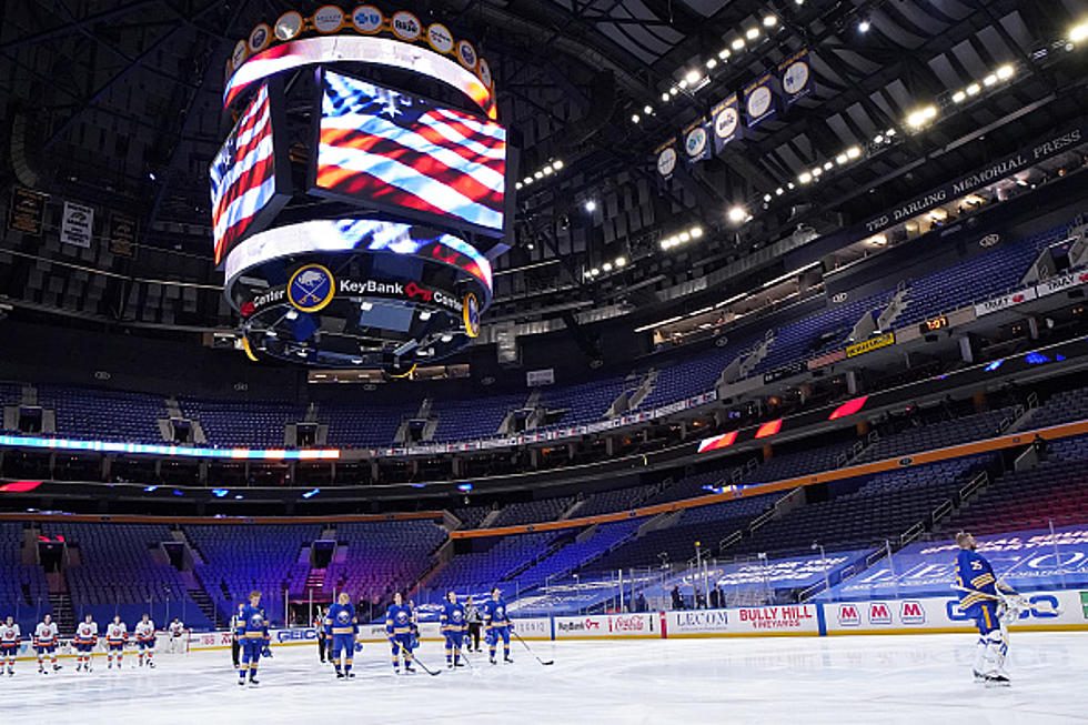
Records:
[[[460,236],[426,226],[374,219],[314,220],[253,234],[226,258],[226,289],[246,270],[271,260],[322,252],[390,252],[455,266],[492,291],[491,262]]]

